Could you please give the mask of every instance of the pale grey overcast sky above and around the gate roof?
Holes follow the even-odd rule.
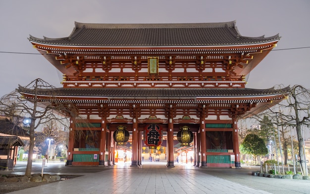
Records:
[[[247,77],[248,88],[310,88],[310,0],[0,0],[0,96],[42,78],[62,87],[61,73],[27,39],[68,37],[74,22],[208,23],[237,21],[242,36],[282,37]],[[291,48],[291,49],[289,49]],[[288,50],[279,50],[288,49]]]

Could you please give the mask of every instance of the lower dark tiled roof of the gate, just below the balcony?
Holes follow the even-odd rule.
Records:
[[[195,89],[154,89],[154,88],[55,88],[39,89],[38,95],[65,97],[107,97],[107,98],[188,98],[197,97],[246,97],[283,94],[282,90],[251,88],[195,88]],[[33,90],[19,86],[21,93],[33,94]]]

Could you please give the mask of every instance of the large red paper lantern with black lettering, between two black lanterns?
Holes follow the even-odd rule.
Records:
[[[150,149],[156,149],[162,143],[162,128],[157,124],[150,124],[144,128],[144,143]]]

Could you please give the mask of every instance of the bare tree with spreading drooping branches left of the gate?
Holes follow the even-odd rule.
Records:
[[[50,95],[39,97],[39,90],[50,91]],[[0,99],[0,114],[18,118],[28,117],[31,120],[29,123],[29,155],[25,176],[31,176],[35,129],[51,120],[57,120],[66,125],[68,117],[73,120],[80,119],[79,110],[76,106],[69,102],[58,101],[54,97],[55,95],[55,87],[38,78],[25,87],[19,85],[15,91],[2,96]]]

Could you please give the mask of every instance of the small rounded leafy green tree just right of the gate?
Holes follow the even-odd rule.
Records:
[[[259,138],[258,135],[249,133],[243,140],[240,146],[240,152],[243,154],[252,155],[255,159],[255,164],[257,163],[257,157],[260,155],[268,154],[268,149],[266,148],[263,139]]]

